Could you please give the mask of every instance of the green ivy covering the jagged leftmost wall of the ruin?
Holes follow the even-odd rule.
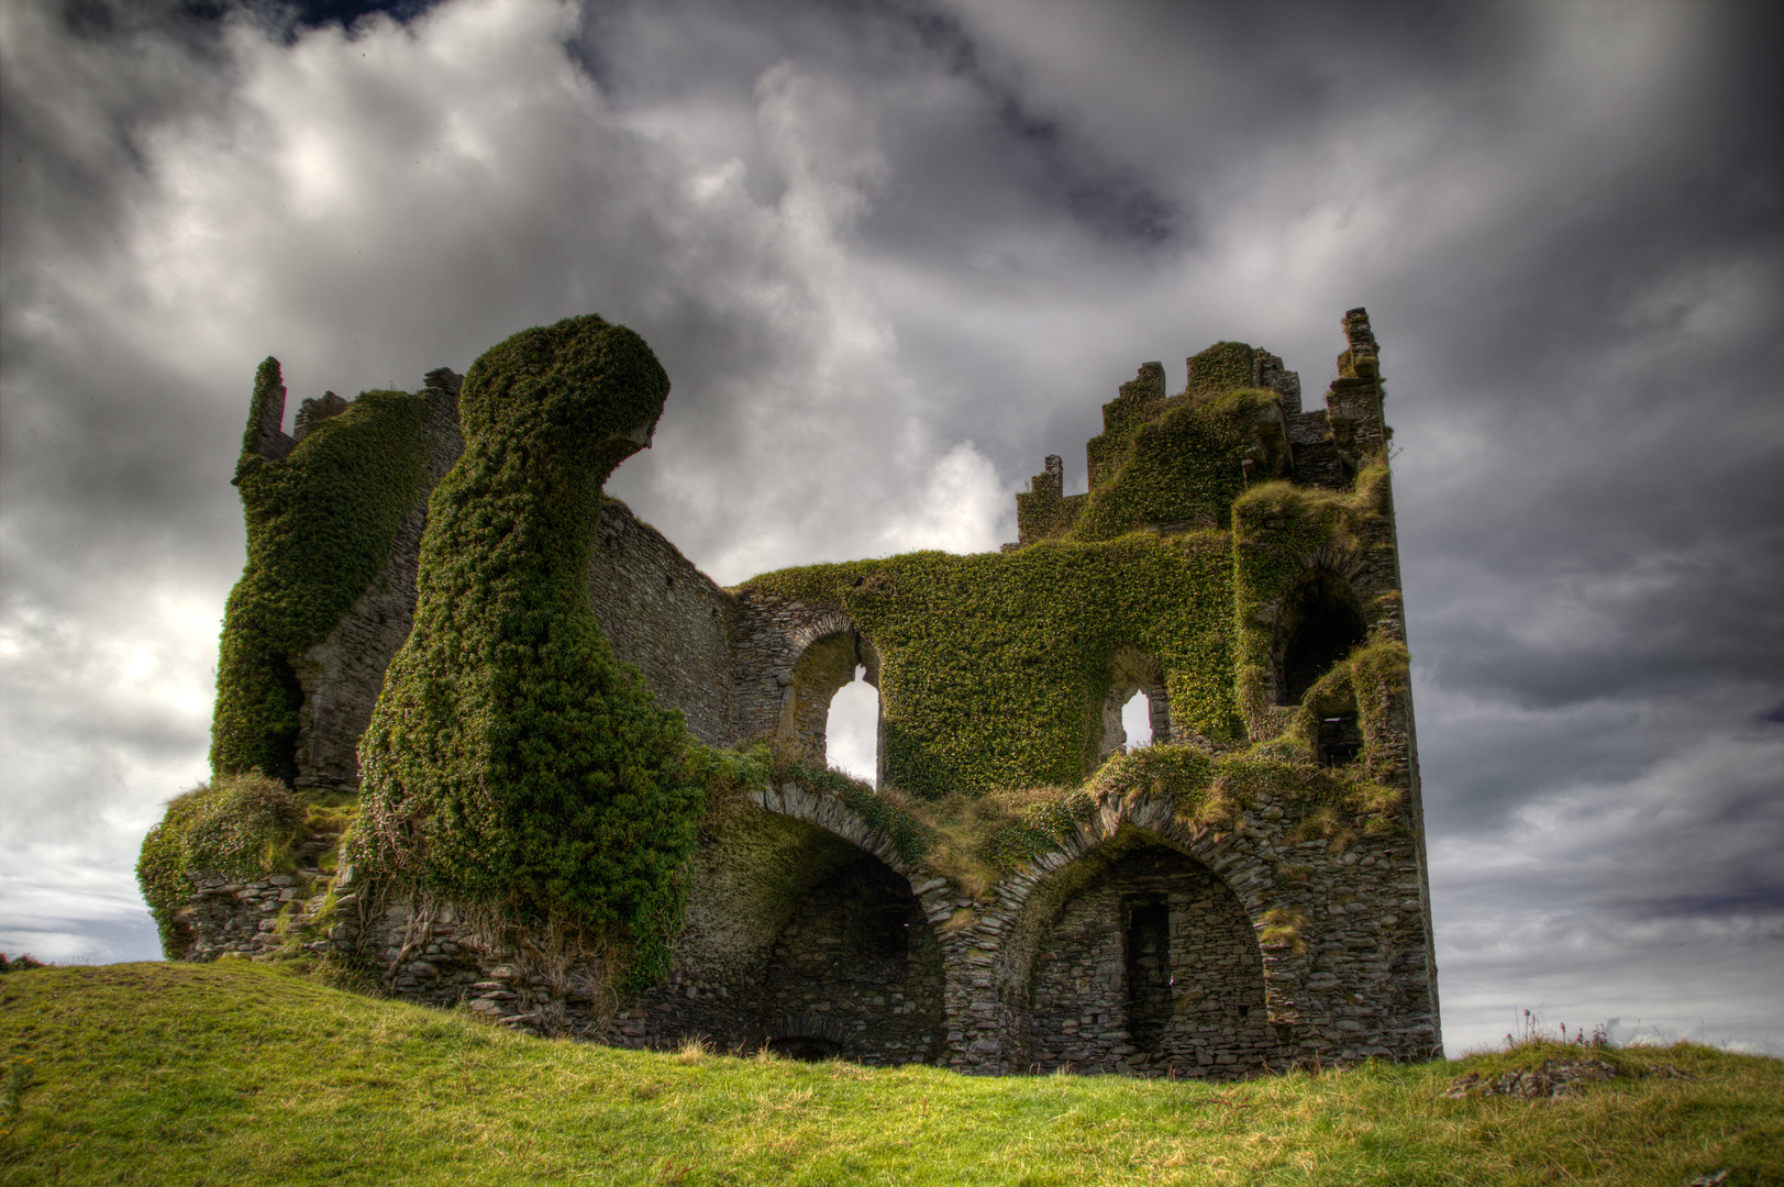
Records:
[[[253,453],[262,414],[284,403],[278,361],[255,377],[235,469],[248,564],[223,610],[211,769],[289,782],[301,691],[291,659],[328,637],[376,577],[426,484],[421,396],[368,391],[291,453]]]

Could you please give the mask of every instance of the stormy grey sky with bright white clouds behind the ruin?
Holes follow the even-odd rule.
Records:
[[[1450,1053],[1784,1051],[1777,5],[387,9],[0,5],[0,948],[157,955],[269,353],[294,411],[626,323],[610,489],[730,584],[995,548],[1138,364],[1317,400],[1365,305]]]

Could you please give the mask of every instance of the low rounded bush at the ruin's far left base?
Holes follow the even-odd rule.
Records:
[[[189,869],[243,880],[291,869],[303,825],[301,800],[259,771],[225,775],[171,800],[143,837],[136,862],[166,957],[175,959],[189,942],[182,921],[193,896]]]

